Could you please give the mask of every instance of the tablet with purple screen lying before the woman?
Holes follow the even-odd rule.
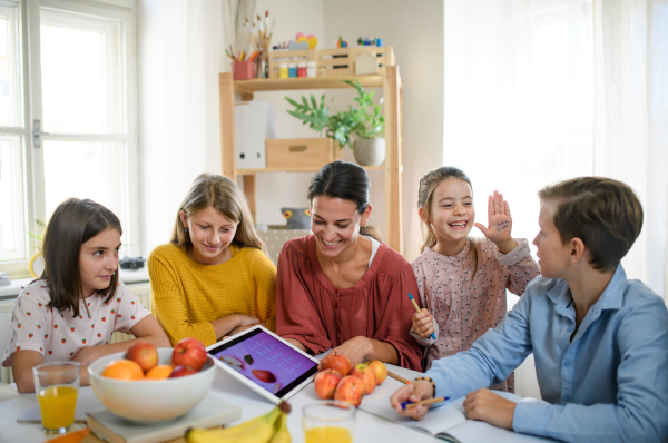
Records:
[[[261,328],[208,351],[278,398],[317,372],[317,363]]]

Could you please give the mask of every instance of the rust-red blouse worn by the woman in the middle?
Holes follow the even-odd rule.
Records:
[[[276,332],[314,354],[356,336],[391,343],[399,365],[421,371],[421,346],[411,336],[418,295],[411,265],[381,244],[366,274],[355,286],[337,289],[320,267],[313,234],[287,242],[278,258]]]

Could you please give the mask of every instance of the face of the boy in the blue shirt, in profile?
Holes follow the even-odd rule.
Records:
[[[533,244],[538,247],[540,273],[548,278],[563,278],[564,270],[570,263],[569,245],[561,242],[559,230],[554,226],[556,210],[557,203],[554,200],[542,203],[538,216],[540,230],[533,239]]]

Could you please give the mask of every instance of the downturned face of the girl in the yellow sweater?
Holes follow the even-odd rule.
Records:
[[[179,217],[193,242],[193,247],[188,249],[190,258],[203,265],[217,265],[229,258],[229,244],[236,234],[236,223],[228,220],[213,206],[190,217],[181,210]]]

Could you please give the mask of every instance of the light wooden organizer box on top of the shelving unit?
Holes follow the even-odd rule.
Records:
[[[384,73],[383,67],[394,66],[394,51],[391,46],[361,46],[332,49],[302,49],[297,51],[269,51],[269,78],[281,78],[281,63],[315,61],[317,77],[344,77],[355,75],[355,62],[363,53],[377,58],[379,72]],[[365,72],[369,73],[369,72]]]

